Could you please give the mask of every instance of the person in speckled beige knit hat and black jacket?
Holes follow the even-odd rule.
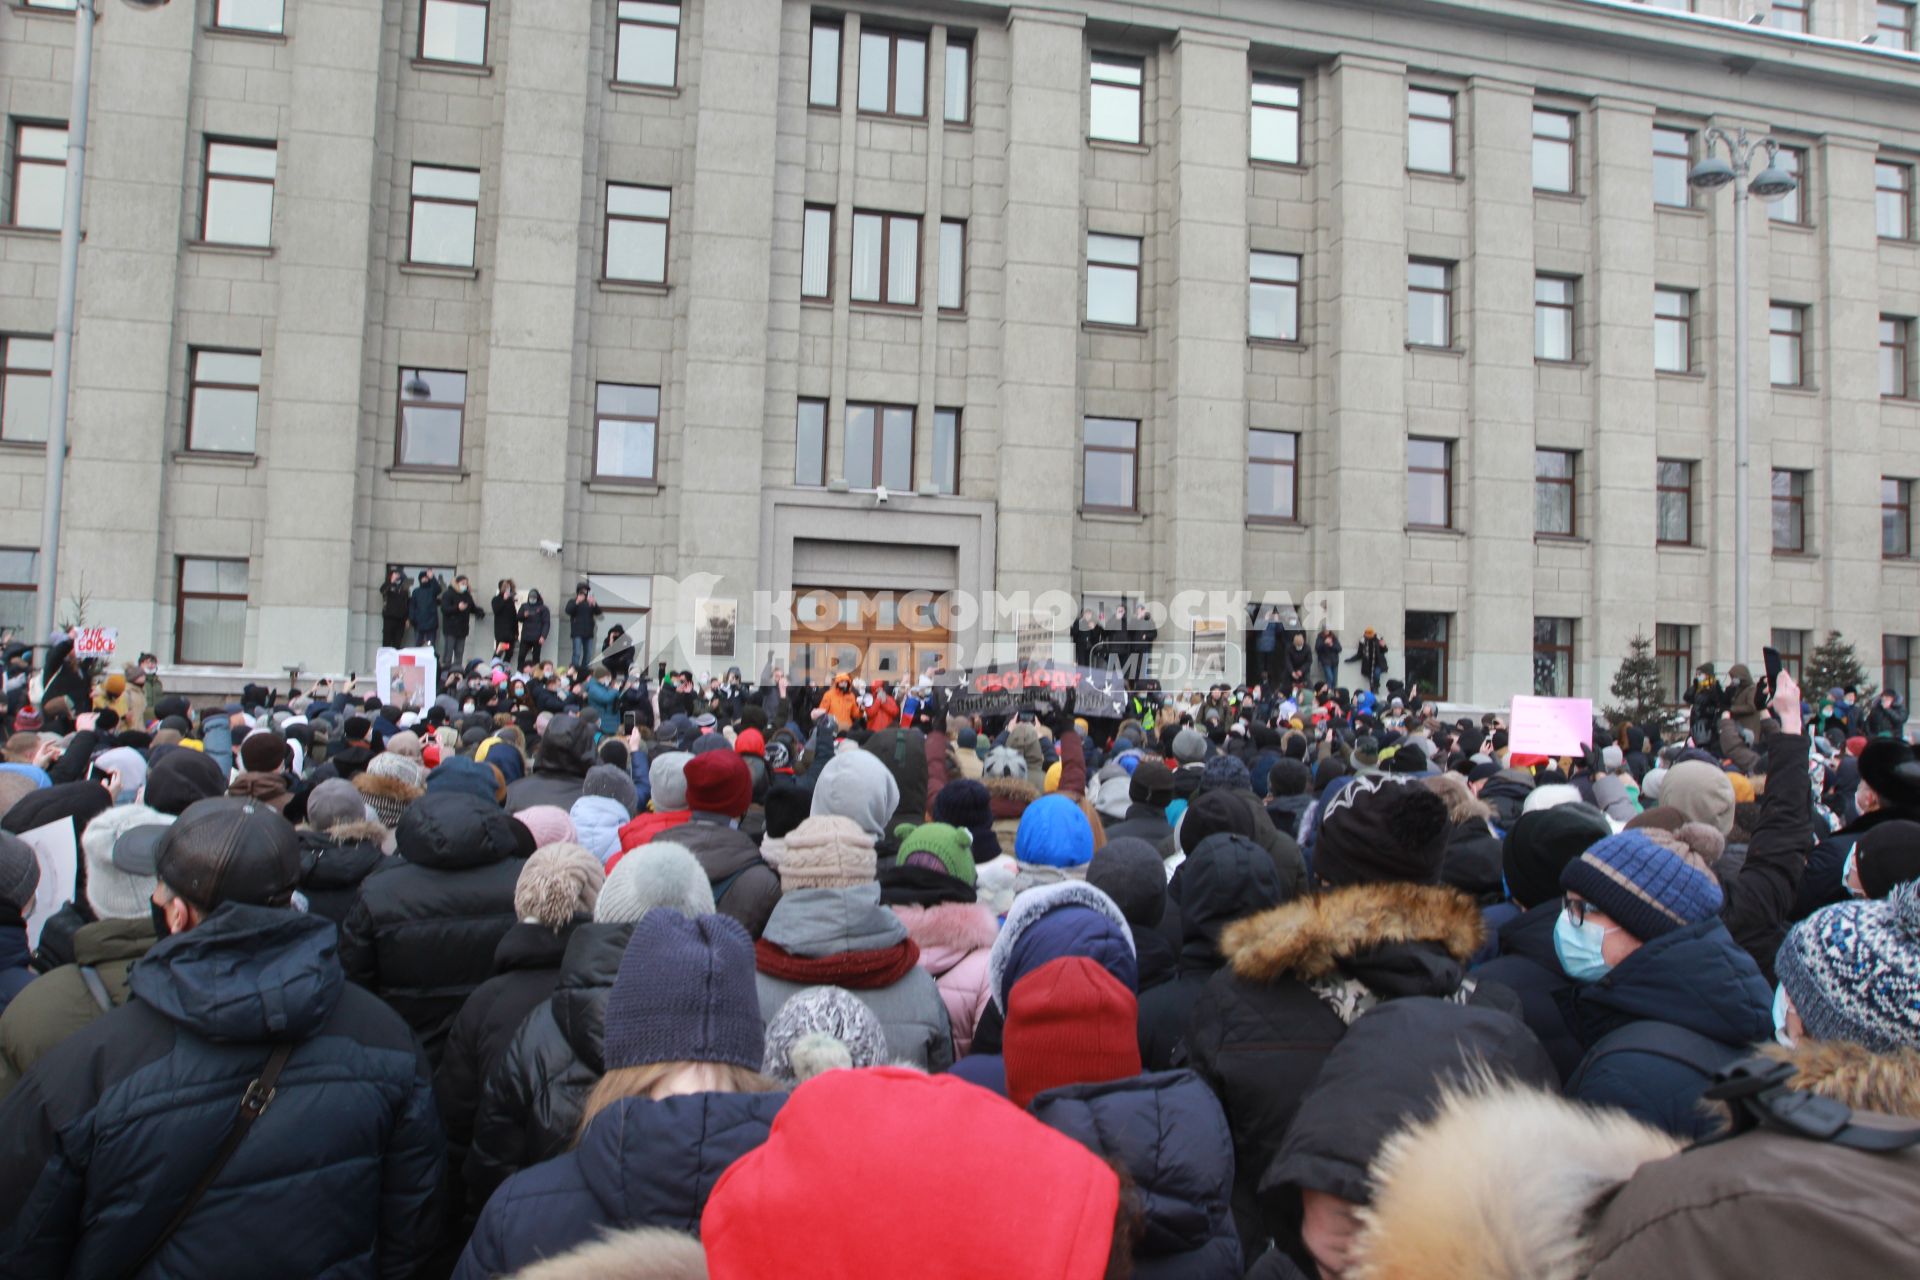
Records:
[[[607,871],[578,844],[547,844],[520,865],[518,917],[493,948],[493,977],[474,988],[447,1031],[434,1073],[434,1100],[447,1132],[447,1161],[467,1161],[480,1086],[526,1015],[553,996],[574,927],[593,919]]]

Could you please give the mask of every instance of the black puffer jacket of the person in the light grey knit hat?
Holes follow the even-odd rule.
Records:
[[[607,992],[634,925],[580,925],[566,940],[553,998],[501,1050],[480,1090],[467,1153],[467,1203],[566,1150],[588,1094],[605,1073]]]

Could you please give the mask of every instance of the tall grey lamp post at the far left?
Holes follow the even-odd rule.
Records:
[[[167,0],[123,0],[157,10]],[[73,0],[73,96],[67,106],[67,188],[60,213],[60,292],[54,301],[54,370],[46,397],[46,493],[40,497],[40,572],[33,597],[31,645],[54,633],[60,589],[60,510],[67,482],[67,395],[73,390],[73,292],[81,274],[81,194],[86,184],[86,102],[94,79],[94,21],[100,0]]]

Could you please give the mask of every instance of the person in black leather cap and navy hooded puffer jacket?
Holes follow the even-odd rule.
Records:
[[[334,927],[286,910],[298,875],[294,829],[265,806],[207,800],[167,831],[169,936],[134,967],[136,1000],[0,1103],[10,1274],[205,1274],[223,1268],[209,1249],[273,1276],[424,1261],[445,1159],[426,1065],[346,981]],[[169,1232],[263,1071],[271,1105]]]

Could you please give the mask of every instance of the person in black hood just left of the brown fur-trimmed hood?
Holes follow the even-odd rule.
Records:
[[[1200,841],[1167,894],[1179,912],[1181,950],[1173,981],[1140,996],[1140,1061],[1148,1071],[1187,1065],[1187,1027],[1200,992],[1227,963],[1219,950],[1227,925],[1288,898],[1267,850],[1229,833]]]

